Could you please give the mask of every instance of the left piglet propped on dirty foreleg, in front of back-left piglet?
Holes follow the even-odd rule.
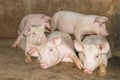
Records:
[[[19,44],[17,44],[21,49],[25,51],[25,62],[31,63],[32,59],[31,56],[28,53],[31,52],[31,50],[39,46],[41,43],[44,42],[44,39],[46,40],[46,35],[45,35],[45,27],[44,25],[42,26],[36,26],[36,27],[27,27],[19,36],[22,35],[21,40]],[[39,55],[38,53],[34,52],[34,55]],[[35,56],[33,56],[35,57]],[[38,59],[36,60],[37,62],[39,61]]]

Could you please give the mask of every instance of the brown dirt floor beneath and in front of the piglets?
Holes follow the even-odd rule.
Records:
[[[14,39],[0,40],[0,80],[120,80],[120,58],[109,60],[106,76],[83,73],[73,63],[60,63],[47,70],[39,64],[24,62],[24,52],[20,48],[11,49]]]

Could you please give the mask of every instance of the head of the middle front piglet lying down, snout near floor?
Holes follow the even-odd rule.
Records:
[[[59,62],[60,54],[57,46],[61,44],[59,36],[54,37],[52,40],[47,41],[40,45],[41,63],[43,69],[47,69],[56,65]]]

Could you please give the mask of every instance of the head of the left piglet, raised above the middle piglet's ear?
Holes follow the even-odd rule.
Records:
[[[36,27],[27,27],[24,31],[24,35],[29,37],[33,44],[40,45],[41,43],[46,41],[46,36],[44,32],[44,25]]]

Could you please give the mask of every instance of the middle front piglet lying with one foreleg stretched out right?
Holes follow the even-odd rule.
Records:
[[[60,62],[74,62],[79,69],[82,68],[82,64],[74,52],[74,44],[70,35],[55,31],[47,39],[47,42],[36,49],[36,52],[39,53],[41,68],[47,69]],[[30,54],[34,55],[34,52]]]

